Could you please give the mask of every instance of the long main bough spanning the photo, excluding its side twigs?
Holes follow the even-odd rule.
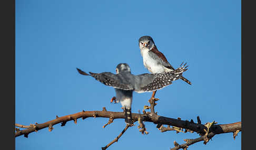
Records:
[[[67,121],[72,121],[72,120],[75,121],[79,118],[86,119],[87,117],[106,117],[106,118],[113,117],[113,119],[125,118],[123,112],[82,111],[82,112],[78,112],[71,115],[56,117],[56,119],[45,122],[45,123],[35,124],[33,127],[30,126],[25,130],[16,132],[15,137],[21,136],[21,135],[24,135],[25,137],[27,137],[29,133],[41,130],[45,127],[49,127],[49,130],[51,131],[55,124],[61,123],[61,125],[64,126]],[[184,120],[172,119],[169,117],[157,115],[155,113],[150,113],[150,112],[146,114],[132,113],[133,121],[137,121],[139,117],[143,117],[143,121],[146,121],[146,122],[153,122],[154,124],[172,125],[176,127],[186,128],[196,133],[205,134],[205,132],[203,131],[203,128],[207,129],[203,124],[192,123],[187,120],[184,121]],[[241,131],[241,122],[232,123],[232,124],[212,125],[209,129],[209,133],[214,132],[214,134],[221,134],[221,133],[236,132],[237,130]]]

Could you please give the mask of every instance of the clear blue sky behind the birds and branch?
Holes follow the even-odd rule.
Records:
[[[121,62],[133,74],[143,66],[138,40],[150,35],[182,80],[157,91],[159,115],[202,123],[241,121],[241,1],[17,1],[15,122],[44,123],[82,110],[122,111],[111,104],[112,87],[84,71],[115,72]],[[134,93],[132,112],[148,105],[151,93]],[[16,149],[101,149],[123,130],[123,119],[79,119],[15,138]],[[148,135],[129,128],[109,149],[169,149],[196,133],[165,132],[145,123]],[[241,133],[213,137],[189,149],[241,149]]]

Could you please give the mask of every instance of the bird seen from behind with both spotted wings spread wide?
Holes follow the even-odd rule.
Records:
[[[185,65],[186,63],[181,65],[178,69],[170,72],[156,74],[144,73],[137,76],[131,73],[131,68],[127,63],[119,63],[115,69],[116,74],[111,72],[89,72],[90,74],[88,74],[81,69],[76,69],[80,74],[85,76],[92,76],[97,81],[100,81],[101,83],[115,89],[116,102],[120,102],[122,105],[122,109],[124,110],[125,115],[125,123],[127,125],[131,125],[133,91],[137,93],[143,93],[160,90],[172,84],[172,81],[178,80],[182,73],[188,70],[188,66],[185,67]]]

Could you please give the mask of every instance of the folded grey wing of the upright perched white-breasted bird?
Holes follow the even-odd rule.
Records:
[[[169,68],[171,70],[175,70],[172,65],[167,61],[167,59],[165,58],[165,56],[163,55],[163,53],[161,53],[160,51],[154,51],[154,50],[150,50],[149,51],[149,55],[155,59],[157,61],[157,63],[159,63],[160,65],[163,65],[166,68]],[[157,55],[157,54],[158,55]],[[162,58],[162,59],[161,59]]]

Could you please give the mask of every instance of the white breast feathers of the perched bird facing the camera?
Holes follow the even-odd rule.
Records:
[[[141,55],[143,57],[143,63],[147,70],[151,73],[163,73],[164,67],[157,62],[157,60],[150,57],[149,52],[147,50],[141,51]]]

